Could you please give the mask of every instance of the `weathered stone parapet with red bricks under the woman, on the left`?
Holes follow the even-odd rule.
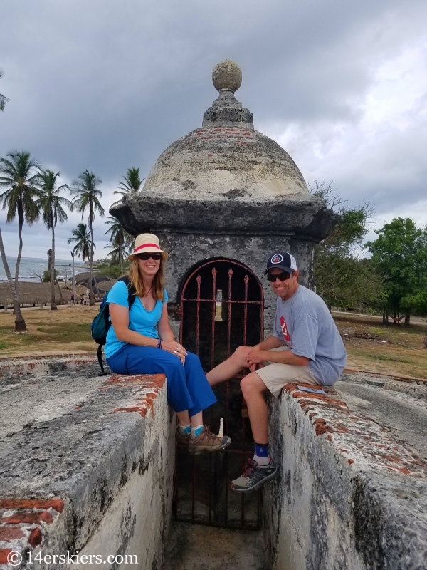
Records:
[[[49,408],[51,416],[0,439],[1,570],[11,568],[8,556],[28,569],[162,566],[174,472],[166,379],[88,378],[84,368],[22,383],[21,399],[36,383],[51,408],[61,390],[82,386],[75,405]]]

